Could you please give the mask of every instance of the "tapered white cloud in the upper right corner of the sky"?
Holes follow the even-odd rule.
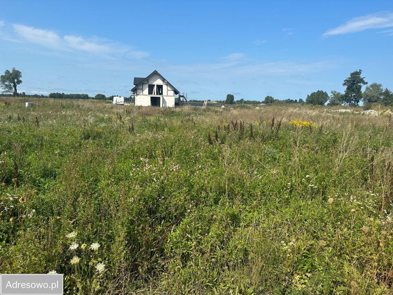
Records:
[[[381,29],[393,27],[393,13],[378,12],[365,15],[363,17],[354,17],[345,24],[336,28],[327,30],[322,36],[341,35],[355,33],[367,29]]]

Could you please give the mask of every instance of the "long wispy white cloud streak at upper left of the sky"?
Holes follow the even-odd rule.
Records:
[[[93,53],[110,58],[141,59],[149,55],[147,52],[135,50],[132,46],[118,44],[96,36],[90,38],[74,35],[61,36],[54,31],[22,24],[12,24],[11,28],[8,35],[2,34],[0,37],[13,42],[40,44],[59,51]]]

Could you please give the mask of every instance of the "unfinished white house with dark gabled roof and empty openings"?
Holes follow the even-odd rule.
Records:
[[[146,78],[134,77],[134,85],[131,91],[135,96],[135,105],[174,107],[174,96],[179,94],[156,70]]]

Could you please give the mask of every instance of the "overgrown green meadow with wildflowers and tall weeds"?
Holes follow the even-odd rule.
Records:
[[[387,115],[1,102],[0,273],[64,273],[65,294],[393,289]]]

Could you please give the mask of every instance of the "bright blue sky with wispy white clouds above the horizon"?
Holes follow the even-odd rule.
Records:
[[[7,1],[20,91],[128,96],[158,70],[189,99],[305,99],[350,72],[393,89],[393,1]],[[119,91],[118,91],[119,90]]]

